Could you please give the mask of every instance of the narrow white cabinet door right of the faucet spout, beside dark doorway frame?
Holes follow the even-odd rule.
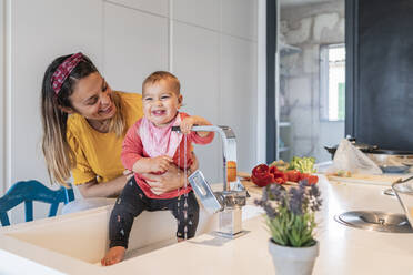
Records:
[[[255,165],[256,149],[256,43],[222,35],[221,116],[236,135],[239,170]]]

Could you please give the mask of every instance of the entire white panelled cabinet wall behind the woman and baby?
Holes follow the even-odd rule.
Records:
[[[239,170],[250,171],[256,155],[264,155],[262,145],[256,150],[258,105],[264,102],[258,99],[258,2],[263,0],[3,1],[10,17],[3,57],[10,62],[2,62],[10,85],[0,82],[10,100],[0,130],[0,141],[7,138],[0,160],[0,172],[9,171],[1,173],[4,190],[27,179],[48,182],[40,147],[42,77],[56,57],[78,51],[115,90],[140,92],[150,72],[172,71],[182,82],[184,111],[234,129]],[[265,62],[260,64],[262,71]],[[264,89],[261,83],[261,96]],[[221,181],[220,142],[195,152],[210,182]]]

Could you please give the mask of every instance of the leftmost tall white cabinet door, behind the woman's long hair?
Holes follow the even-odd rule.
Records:
[[[48,182],[41,152],[40,91],[46,68],[78,51],[101,65],[100,0],[13,0],[10,17],[10,75],[7,90],[8,184],[26,179]],[[75,20],[73,20],[75,14]],[[81,30],[81,31],[79,31]]]

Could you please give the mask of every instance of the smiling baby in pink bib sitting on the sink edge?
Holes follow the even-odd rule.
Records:
[[[133,177],[114,204],[109,224],[110,249],[102,265],[123,259],[133,220],[143,211],[171,211],[178,220],[178,242],[195,235],[199,205],[191,186],[155,194],[142,176],[143,173],[164,173],[172,163],[185,170],[193,162],[191,143],[212,142],[212,132],[190,131],[194,124],[211,123],[201,116],[178,112],[182,99],[180,82],[172,73],[153,72],[143,81],[144,116],[128,130],[121,154],[124,167],[133,171]],[[182,134],[172,131],[177,125]]]

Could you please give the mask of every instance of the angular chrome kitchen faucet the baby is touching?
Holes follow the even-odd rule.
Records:
[[[172,131],[180,131],[173,126]],[[242,231],[242,206],[249,196],[245,187],[236,176],[236,140],[235,134],[229,126],[192,126],[191,131],[216,132],[222,140],[223,155],[223,186],[222,191],[213,192],[200,170],[193,172],[189,182],[195,195],[210,213],[220,212],[219,235],[224,237],[238,237]]]

